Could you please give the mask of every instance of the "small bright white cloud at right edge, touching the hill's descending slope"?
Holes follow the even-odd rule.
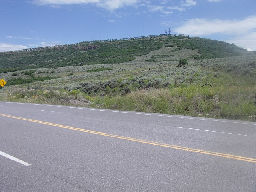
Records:
[[[243,36],[225,40],[229,43],[235,43],[239,47],[243,47],[248,51],[256,51],[256,32],[252,32]]]

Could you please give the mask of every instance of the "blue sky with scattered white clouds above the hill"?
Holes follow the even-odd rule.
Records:
[[[256,51],[256,0],[0,0],[0,51],[164,34]]]

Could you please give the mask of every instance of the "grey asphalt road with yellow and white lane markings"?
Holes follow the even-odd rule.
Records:
[[[1,192],[256,192],[256,122],[0,102],[0,170]]]

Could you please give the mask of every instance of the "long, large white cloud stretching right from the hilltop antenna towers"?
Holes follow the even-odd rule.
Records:
[[[190,19],[175,31],[197,36],[216,33],[245,34],[253,29],[256,30],[256,16],[250,16],[243,20]]]

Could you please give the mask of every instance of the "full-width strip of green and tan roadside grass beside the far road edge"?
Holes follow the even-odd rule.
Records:
[[[26,90],[24,88],[8,92],[8,95],[6,94],[2,99],[48,104],[63,104],[65,101],[67,105],[102,109],[256,121],[256,86],[239,86],[239,81],[237,85],[232,85],[234,83],[230,82],[233,79],[232,76],[224,79],[216,78],[211,82],[217,89],[200,88],[201,84],[194,83],[179,87],[169,85],[164,88],[139,89],[126,94],[117,94],[120,92],[117,87],[107,86],[106,94],[101,96],[99,93],[102,91],[95,95],[95,92],[88,94],[81,89],[68,92],[64,89]],[[222,81],[225,83],[221,83]],[[120,83],[122,83],[121,79]]]

